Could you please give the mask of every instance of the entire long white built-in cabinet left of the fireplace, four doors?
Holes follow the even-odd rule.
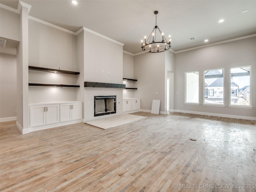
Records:
[[[81,101],[30,103],[30,132],[83,122]]]

